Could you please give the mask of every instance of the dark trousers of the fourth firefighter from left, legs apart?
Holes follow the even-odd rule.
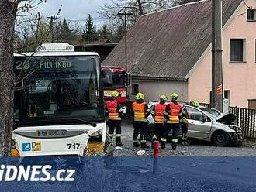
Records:
[[[169,132],[172,129],[172,138],[171,138],[171,149],[175,150],[178,143],[178,132],[180,129],[179,123],[167,123],[164,126],[164,135],[161,138],[161,149],[165,148],[165,144],[167,142],[167,138],[169,135]]]

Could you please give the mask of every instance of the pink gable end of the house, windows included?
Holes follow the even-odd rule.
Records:
[[[230,105],[256,108],[256,1],[241,2],[223,26],[223,85]],[[188,75],[189,100],[209,103],[211,46]]]

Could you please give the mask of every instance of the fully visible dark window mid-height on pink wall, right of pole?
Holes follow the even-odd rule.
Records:
[[[245,62],[245,39],[230,39],[230,62]]]

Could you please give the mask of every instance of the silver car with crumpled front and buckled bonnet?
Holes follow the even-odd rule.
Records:
[[[149,108],[153,110],[157,102],[150,102]],[[236,117],[234,114],[219,114],[199,106],[199,108],[191,105],[182,104],[188,112],[189,130],[188,138],[213,142],[216,146],[241,146],[243,143],[243,135],[240,127],[234,125]],[[147,118],[149,127],[147,129],[147,139],[151,139],[154,128],[154,118],[149,115]],[[171,136],[171,132],[170,132]],[[178,137],[182,137],[180,131]]]

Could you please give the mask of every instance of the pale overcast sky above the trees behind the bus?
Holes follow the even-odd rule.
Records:
[[[88,14],[93,16],[96,26],[104,22],[99,18],[100,7],[110,0],[47,0],[40,5],[44,16],[56,15],[62,5],[61,18],[66,19],[86,19]]]

